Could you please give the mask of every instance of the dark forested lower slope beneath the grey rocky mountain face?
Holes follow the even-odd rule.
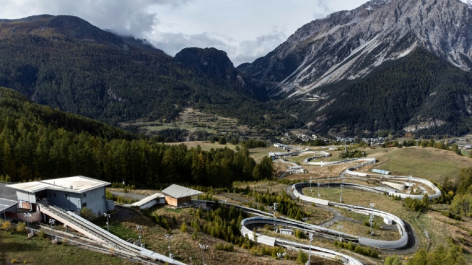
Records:
[[[314,94],[323,99],[290,99],[281,108],[298,108],[299,119],[320,133],[367,136],[390,130],[402,135],[411,125],[418,137],[472,130],[472,76],[423,50]]]

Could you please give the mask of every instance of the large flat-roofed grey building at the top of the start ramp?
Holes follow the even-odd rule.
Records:
[[[37,202],[47,200],[68,211],[79,212],[87,207],[96,216],[113,210],[114,202],[105,197],[110,182],[90,177],[62,177],[6,185],[16,190],[19,208],[39,211]]]

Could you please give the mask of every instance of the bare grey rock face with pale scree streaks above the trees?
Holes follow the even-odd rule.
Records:
[[[417,48],[472,69],[469,0],[371,0],[351,11],[312,21],[265,57],[239,70],[272,96],[369,74]]]

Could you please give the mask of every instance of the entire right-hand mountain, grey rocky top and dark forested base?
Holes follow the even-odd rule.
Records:
[[[471,29],[467,1],[371,0],[238,70],[318,132],[456,135],[472,128]]]

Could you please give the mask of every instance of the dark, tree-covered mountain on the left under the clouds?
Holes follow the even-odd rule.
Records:
[[[74,16],[0,20],[0,86],[110,124],[168,122],[186,107],[252,126],[295,121],[265,104],[222,51],[185,49],[174,59]]]

